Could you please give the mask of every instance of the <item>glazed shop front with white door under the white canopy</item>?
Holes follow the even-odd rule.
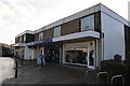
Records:
[[[66,43],[63,45],[63,62],[69,64],[87,66],[94,69],[95,41]]]

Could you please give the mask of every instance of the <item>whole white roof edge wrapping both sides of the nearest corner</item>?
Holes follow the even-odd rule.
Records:
[[[107,15],[109,15],[113,18],[119,20],[120,23],[122,23],[122,24],[125,24],[127,26],[130,26],[130,23],[127,19],[125,19],[123,17],[121,17],[119,14],[115,13],[113,10],[108,9],[104,4],[98,3],[98,4],[93,5],[93,6],[84,9],[84,10],[82,10],[80,12],[77,12],[77,13],[75,13],[73,15],[69,15],[69,16],[64,17],[62,19],[58,19],[58,20],[56,20],[54,23],[51,23],[51,24],[49,24],[49,25],[47,25],[47,26],[44,26],[44,27],[42,27],[40,29],[37,29],[37,30],[35,30],[35,33],[38,33],[38,32],[47,30],[47,29],[51,29],[53,27],[60,26],[62,24],[68,23],[70,20],[83,17],[83,16],[87,16],[87,15],[90,15],[92,13],[100,12],[100,11],[106,13]]]

